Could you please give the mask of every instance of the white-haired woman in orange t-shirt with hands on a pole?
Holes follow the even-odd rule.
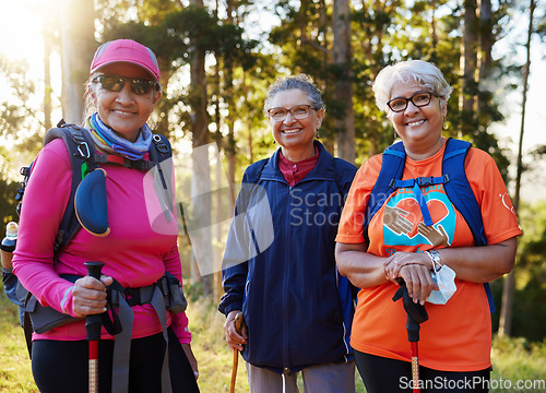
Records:
[[[402,180],[443,175],[442,124],[451,91],[441,71],[420,60],[389,66],[377,76],[377,105],[385,110],[406,154]],[[373,215],[366,237],[363,217],[382,159],[382,154],[373,156],[358,170],[336,237],[340,273],[361,288],[351,344],[366,389],[392,393],[413,388],[406,312],[401,301],[392,301],[402,278],[410,297],[426,305],[429,315],[420,326],[419,388],[487,392],[491,323],[483,283],[512,270],[521,235],[500,172],[487,153],[470,148],[464,169],[487,246],[474,247],[474,236],[442,183],[394,190]],[[431,297],[438,294],[432,293],[438,289],[435,265],[455,275],[456,290],[444,303]]]

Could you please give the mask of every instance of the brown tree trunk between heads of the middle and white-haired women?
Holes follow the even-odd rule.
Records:
[[[333,96],[344,107],[341,116],[334,119],[337,155],[349,163],[355,163],[355,114],[353,110],[351,8],[348,0],[334,0],[333,32],[333,64],[339,73],[334,82]]]

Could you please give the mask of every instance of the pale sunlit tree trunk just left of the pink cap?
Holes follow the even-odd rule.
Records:
[[[95,8],[93,0],[62,0],[62,117],[67,122],[81,123],[84,83],[95,47]]]

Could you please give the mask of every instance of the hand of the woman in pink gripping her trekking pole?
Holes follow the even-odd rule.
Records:
[[[106,311],[106,287],[114,279],[103,275],[100,281],[91,276],[79,278],[72,288],[72,310],[78,317]]]

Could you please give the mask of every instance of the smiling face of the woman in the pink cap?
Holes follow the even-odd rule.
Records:
[[[123,62],[105,66],[99,73],[151,79],[144,69]],[[139,136],[140,128],[146,123],[161,96],[155,88],[142,95],[134,94],[129,83],[120,92],[107,91],[100,83],[94,83],[90,88],[100,120],[131,142]]]

